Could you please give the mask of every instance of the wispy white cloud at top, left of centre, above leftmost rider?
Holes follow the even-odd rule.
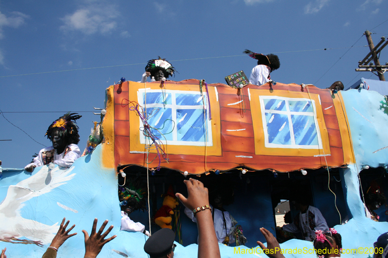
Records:
[[[116,5],[93,2],[61,18],[65,25],[62,25],[60,29],[64,32],[80,31],[86,35],[108,34],[117,28],[117,16]]]

